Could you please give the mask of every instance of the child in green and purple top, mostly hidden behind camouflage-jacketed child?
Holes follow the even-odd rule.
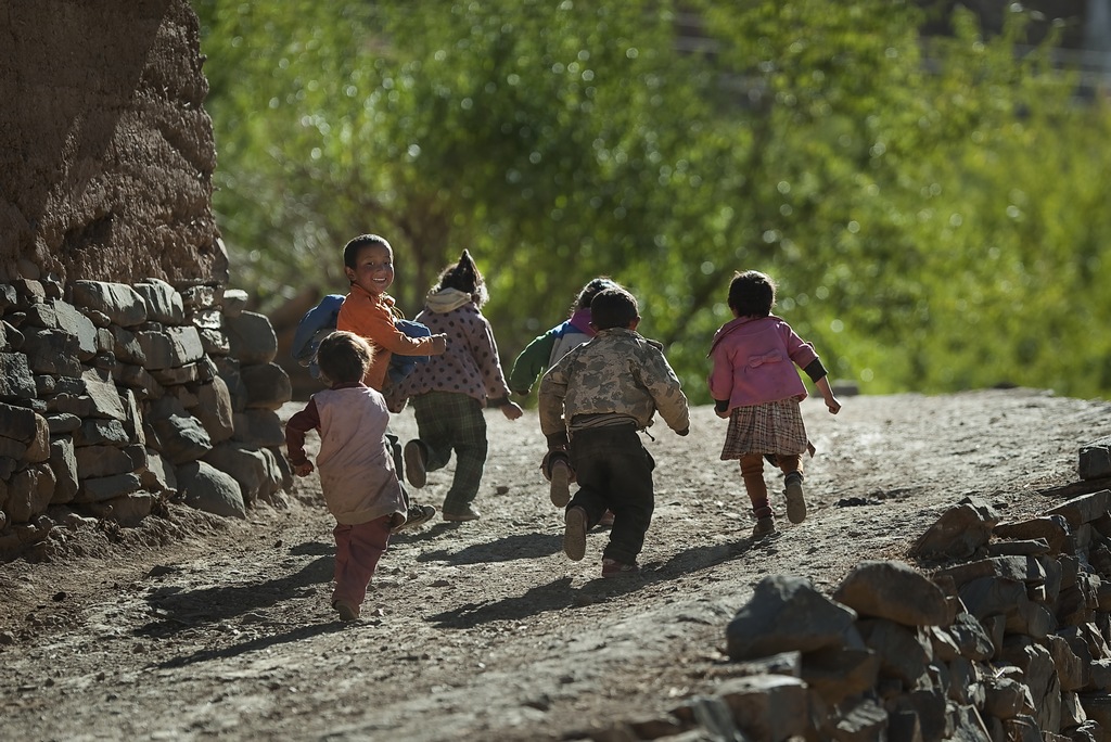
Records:
[[[604,275],[591,279],[587,285],[582,287],[571,305],[570,317],[542,335],[534,338],[513,361],[513,368],[509,372],[509,388],[514,394],[528,395],[532,391],[532,384],[546,369],[551,368],[556,361],[567,355],[567,352],[572,348],[577,348],[594,337],[594,329],[590,325],[590,302],[598,295],[598,292],[619,288],[621,287]],[[554,451],[551,455],[544,457],[540,463],[540,470],[551,483],[549,497],[552,504],[557,508],[565,508],[571,499],[571,482],[574,481],[574,472],[571,470],[567,454]],[[612,524],[613,513],[607,511],[599,521],[599,525]]]

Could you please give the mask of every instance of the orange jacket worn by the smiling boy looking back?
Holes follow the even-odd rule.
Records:
[[[360,335],[374,350],[367,375],[362,378],[362,382],[371,389],[382,391],[384,388],[386,372],[393,353],[429,355],[432,351],[431,338],[410,338],[394,327],[393,318],[400,315],[400,311],[393,308],[393,297],[384,293],[376,297],[354,284],[340,305],[336,329]]]

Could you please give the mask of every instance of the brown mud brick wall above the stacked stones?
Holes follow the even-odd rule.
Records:
[[[188,0],[0,0],[0,281],[227,284]]]

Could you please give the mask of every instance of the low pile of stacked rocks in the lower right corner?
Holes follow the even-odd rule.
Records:
[[[918,569],[864,561],[829,596],[767,576],[712,695],[591,738],[1111,740],[1109,508],[1100,490],[1001,522],[965,498],[915,543]]]

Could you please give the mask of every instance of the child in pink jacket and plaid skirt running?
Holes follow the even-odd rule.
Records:
[[[818,353],[771,313],[774,305],[771,278],[759,271],[735,273],[729,284],[729,308],[735,319],[714,333],[710,348],[710,394],[718,417],[729,419],[721,459],[741,462],[741,479],[757,519],[752,535],[758,539],[777,532],[763,479],[764,457],[783,471],[788,520],[801,523],[807,517],[802,454],[808,450],[813,454],[813,449],[799,408],[807,388],[794,365],[814,382],[832,414],[841,409]]]

